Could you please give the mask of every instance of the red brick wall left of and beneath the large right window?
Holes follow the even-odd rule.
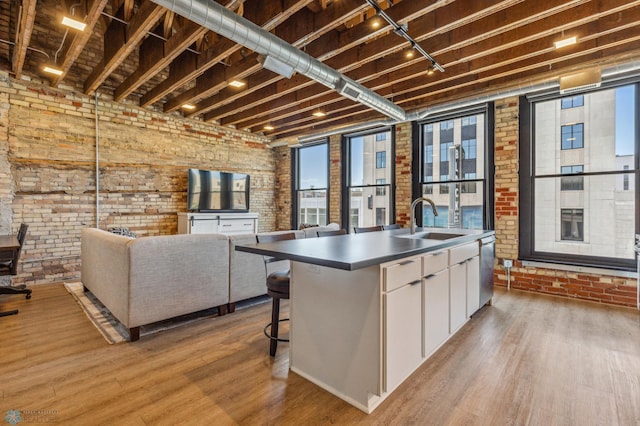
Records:
[[[518,259],[518,98],[495,103],[495,284],[506,287],[502,262],[514,260],[511,288],[585,299],[623,306],[636,306],[637,280],[608,275],[527,267]]]

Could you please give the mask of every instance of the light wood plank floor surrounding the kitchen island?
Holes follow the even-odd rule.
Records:
[[[108,345],[62,285],[0,297],[20,309],[0,318],[0,422],[17,409],[80,425],[640,424],[633,309],[497,290],[366,415],[289,372],[286,344],[268,356],[269,304]]]

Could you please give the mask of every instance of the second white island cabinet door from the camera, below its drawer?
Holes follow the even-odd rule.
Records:
[[[424,278],[424,357],[449,337],[449,270]]]

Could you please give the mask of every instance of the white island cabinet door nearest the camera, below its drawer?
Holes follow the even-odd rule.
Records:
[[[384,295],[385,382],[391,392],[422,362],[422,286],[417,280]]]

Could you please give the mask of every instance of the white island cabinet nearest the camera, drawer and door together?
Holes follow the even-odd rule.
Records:
[[[396,388],[422,362],[422,281],[419,257],[383,267],[383,391]]]

